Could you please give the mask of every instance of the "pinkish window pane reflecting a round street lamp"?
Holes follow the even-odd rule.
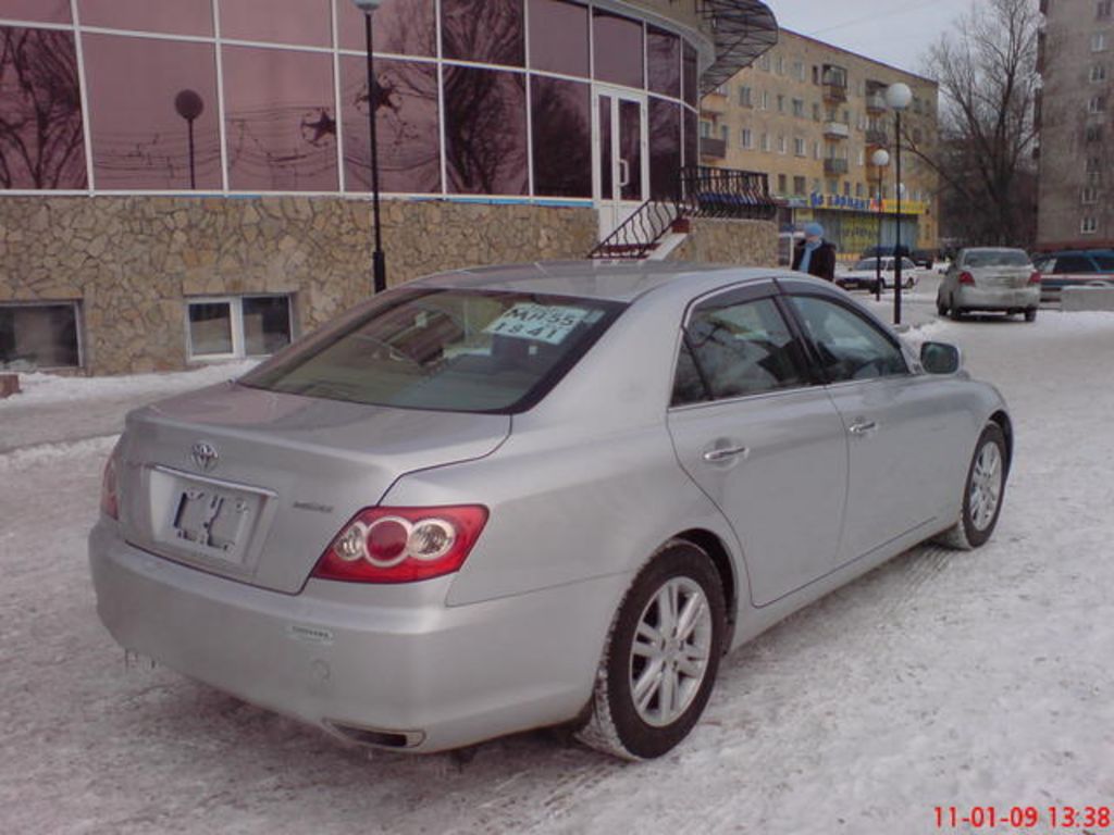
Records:
[[[113,35],[84,46],[96,187],[221,188],[214,47]]]

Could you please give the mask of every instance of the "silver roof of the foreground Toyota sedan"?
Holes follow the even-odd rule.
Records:
[[[683,284],[696,295],[725,283],[760,281],[784,273],[776,267],[586,258],[457,269],[408,282],[405,286],[540,293],[631,303],[667,285]]]

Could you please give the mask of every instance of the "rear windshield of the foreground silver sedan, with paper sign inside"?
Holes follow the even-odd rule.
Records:
[[[540,400],[622,310],[530,293],[392,293],[240,382],[400,409],[515,412]]]

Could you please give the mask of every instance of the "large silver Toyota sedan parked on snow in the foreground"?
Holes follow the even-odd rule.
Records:
[[[926,539],[985,542],[1012,438],[956,348],[799,274],[433,276],[131,413],[97,610],[355,743],[569,724],[656,757],[724,652]]]

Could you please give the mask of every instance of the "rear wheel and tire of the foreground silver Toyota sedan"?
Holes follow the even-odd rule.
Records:
[[[668,752],[704,711],[725,635],[720,572],[696,546],[667,543],[638,572],[615,613],[590,718],[577,738],[624,759]]]

